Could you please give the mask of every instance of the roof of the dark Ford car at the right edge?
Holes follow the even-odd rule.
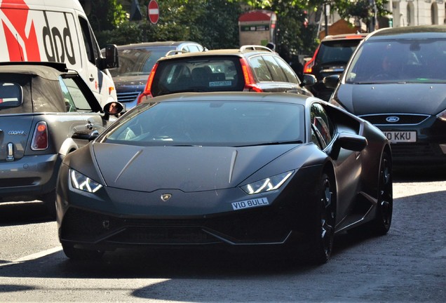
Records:
[[[366,40],[446,38],[444,25],[417,25],[410,27],[386,27],[367,36]]]

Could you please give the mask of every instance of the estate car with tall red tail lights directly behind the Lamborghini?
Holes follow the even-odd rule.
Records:
[[[306,80],[308,85],[314,82],[314,77]],[[159,59],[138,103],[168,93],[212,91],[311,95],[278,53],[264,46],[242,46]]]

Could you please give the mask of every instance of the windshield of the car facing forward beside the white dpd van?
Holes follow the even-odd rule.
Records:
[[[129,48],[120,49],[119,67],[109,69],[112,76],[148,75],[156,61],[173,47]]]

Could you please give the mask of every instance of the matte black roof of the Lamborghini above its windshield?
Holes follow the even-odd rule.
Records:
[[[295,93],[252,93],[252,92],[213,92],[213,93],[173,93],[161,95],[144,101],[143,103],[154,102],[190,102],[190,101],[246,101],[246,102],[285,102],[298,105],[308,105],[311,100],[318,100],[315,97],[298,95]],[[320,100],[322,101],[322,100]],[[324,102],[324,101],[322,101]]]

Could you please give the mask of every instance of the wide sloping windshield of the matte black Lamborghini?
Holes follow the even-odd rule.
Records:
[[[120,118],[102,142],[246,146],[304,140],[304,107],[279,102],[162,102]]]

